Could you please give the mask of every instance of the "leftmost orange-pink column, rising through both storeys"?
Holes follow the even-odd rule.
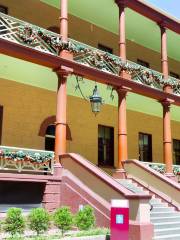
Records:
[[[61,0],[60,35],[63,42],[68,41],[68,0]],[[71,54],[61,51],[60,57],[70,58]],[[67,107],[67,77],[69,69],[61,66],[54,70],[58,76],[57,108],[56,108],[56,131],[55,131],[55,174],[60,174],[61,165],[59,156],[66,153],[66,107]]]

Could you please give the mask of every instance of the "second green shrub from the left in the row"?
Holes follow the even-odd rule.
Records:
[[[28,220],[30,229],[35,231],[37,235],[48,230],[50,217],[44,208],[32,209]]]

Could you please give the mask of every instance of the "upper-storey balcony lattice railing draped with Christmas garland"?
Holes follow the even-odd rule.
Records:
[[[180,95],[180,80],[176,78],[169,77],[168,80],[164,80],[162,74],[157,71],[131,61],[123,62],[115,55],[73,39],[63,42],[59,34],[2,13],[0,13],[0,38],[55,56],[58,56],[61,50],[68,50],[73,53],[75,62],[114,75],[119,75],[122,70],[126,70],[139,84],[158,90],[163,90],[164,86],[170,85],[174,94]]]

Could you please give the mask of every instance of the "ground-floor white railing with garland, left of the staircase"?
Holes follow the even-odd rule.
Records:
[[[53,173],[54,152],[0,146],[0,171]]]

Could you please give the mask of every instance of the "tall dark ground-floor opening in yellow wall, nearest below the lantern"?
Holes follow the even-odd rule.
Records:
[[[114,128],[98,125],[98,165],[114,166]]]

